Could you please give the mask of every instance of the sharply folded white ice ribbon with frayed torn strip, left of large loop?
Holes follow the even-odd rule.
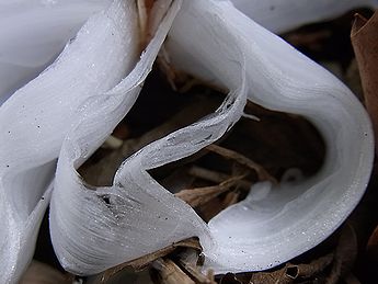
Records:
[[[130,100],[135,100],[171,26],[179,2],[174,4],[136,70],[116,90],[102,96],[105,99],[92,101],[62,146],[51,198],[50,232],[60,263],[76,274],[98,273],[193,236],[199,236],[207,248],[214,246],[207,225],[192,207],[158,184],[147,170],[198,151],[240,118],[247,86],[243,56],[239,53],[237,57],[237,48],[227,54],[237,60],[230,63],[230,70],[224,70],[227,87],[232,91],[214,114],[129,157],[116,172],[112,186],[90,186],[76,171],[125,115]],[[228,33],[227,37],[233,36]],[[229,71],[234,75],[232,78]],[[136,75],[144,78],[134,78]]]

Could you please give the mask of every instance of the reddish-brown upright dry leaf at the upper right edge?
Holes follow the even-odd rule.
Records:
[[[366,20],[355,15],[351,39],[364,89],[365,104],[378,140],[378,12]],[[376,145],[376,151],[378,145]]]

